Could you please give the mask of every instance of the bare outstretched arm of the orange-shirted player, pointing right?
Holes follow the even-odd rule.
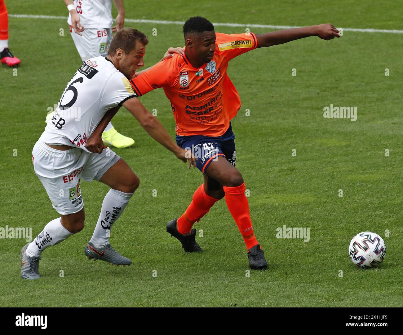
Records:
[[[310,36],[318,36],[321,39],[326,40],[333,39],[334,37],[340,37],[339,31],[334,27],[334,25],[326,23],[324,25],[284,29],[272,31],[271,33],[266,34],[258,34],[256,35],[258,42],[257,48],[270,47],[272,45],[283,44],[294,41],[295,39]]]

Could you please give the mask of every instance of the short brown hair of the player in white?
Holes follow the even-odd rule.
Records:
[[[136,48],[137,41],[147,45],[148,37],[137,29],[123,28],[113,36],[108,55],[114,55],[116,49],[122,49],[125,54],[130,54]]]

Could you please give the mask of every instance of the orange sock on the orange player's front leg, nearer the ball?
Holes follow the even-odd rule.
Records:
[[[245,183],[240,186],[228,187],[224,186],[225,202],[232,217],[237,223],[238,229],[245,241],[246,248],[250,249],[258,244],[253,227],[251,215],[249,213],[248,199],[245,196]]]

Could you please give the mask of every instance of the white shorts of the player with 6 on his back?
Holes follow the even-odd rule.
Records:
[[[62,151],[48,147],[40,139],[32,150],[35,174],[44,185],[53,208],[61,215],[84,208],[80,178],[88,182],[100,180],[119,159],[109,148],[100,154],[79,148]]]

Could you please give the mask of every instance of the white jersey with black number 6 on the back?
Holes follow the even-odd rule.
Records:
[[[137,94],[129,80],[110,60],[90,58],[64,89],[41,140],[50,145],[70,145],[88,151],[85,143],[106,112],[133,97]]]

